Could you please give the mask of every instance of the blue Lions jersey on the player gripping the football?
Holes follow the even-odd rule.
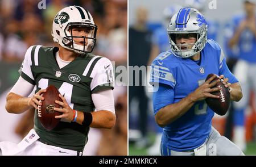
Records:
[[[160,108],[187,97],[204,83],[210,73],[224,74],[230,83],[238,82],[226,66],[220,46],[213,40],[208,40],[201,51],[200,65],[191,59],[176,57],[171,51],[161,53],[152,62],[150,82],[155,88],[156,83],[167,85],[171,91],[164,93],[173,92],[174,95],[170,96],[169,102],[162,101],[160,107],[156,102],[156,95],[156,98],[153,98],[155,114]],[[156,94],[161,93],[160,91],[161,89],[156,91]],[[164,127],[162,142],[166,142],[174,151],[188,151],[199,147],[209,136],[213,115],[214,112],[204,100],[196,102],[183,116]]]

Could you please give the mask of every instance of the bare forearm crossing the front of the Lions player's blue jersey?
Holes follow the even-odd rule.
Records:
[[[167,124],[174,122],[174,120],[185,114],[194,103],[191,95],[188,95],[177,103],[161,108],[155,115],[156,123],[158,123],[160,127],[167,126]]]

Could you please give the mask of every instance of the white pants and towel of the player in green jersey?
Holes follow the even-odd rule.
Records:
[[[39,136],[32,129],[19,144],[10,141],[0,142],[3,156],[81,156],[82,152],[43,144],[38,141]]]

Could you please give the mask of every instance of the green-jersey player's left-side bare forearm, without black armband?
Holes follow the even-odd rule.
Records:
[[[10,92],[6,97],[6,111],[14,114],[27,111],[31,108],[31,106],[28,105],[28,101],[29,98]]]

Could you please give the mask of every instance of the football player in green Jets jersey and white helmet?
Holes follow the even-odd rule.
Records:
[[[53,41],[59,47],[34,45],[27,49],[20,77],[7,94],[6,110],[20,114],[35,108],[34,128],[17,145],[1,142],[3,155],[82,155],[90,127],[115,124],[113,66],[109,59],[93,55],[97,26],[88,10],[69,6],[60,10],[52,24]],[[48,85],[59,89],[63,114],[51,131],[38,118]],[[36,86],[35,94],[28,97]],[[22,89],[20,89],[22,87]],[[94,112],[97,111],[97,112]]]

